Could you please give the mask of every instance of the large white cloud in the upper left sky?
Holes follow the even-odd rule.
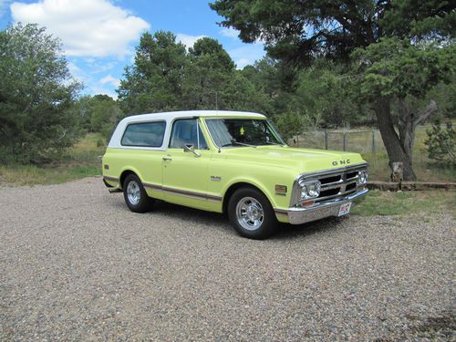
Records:
[[[132,16],[109,0],[16,2],[10,8],[15,23],[46,26],[62,39],[67,56],[125,57],[130,55],[130,43],[150,28],[139,16]]]

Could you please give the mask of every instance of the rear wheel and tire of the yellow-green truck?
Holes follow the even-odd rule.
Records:
[[[123,198],[131,212],[149,212],[154,202],[136,174],[129,174],[123,182]]]

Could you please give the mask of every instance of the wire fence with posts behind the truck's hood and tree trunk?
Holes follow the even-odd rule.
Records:
[[[453,166],[442,167],[431,161],[424,141],[426,130],[432,126],[419,126],[413,149],[414,171],[419,181],[456,181]],[[369,162],[371,179],[389,181],[389,158],[379,130],[309,130],[290,141],[291,146],[306,149],[346,150],[358,152]]]

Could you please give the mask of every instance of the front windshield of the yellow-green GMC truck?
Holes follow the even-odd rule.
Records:
[[[218,147],[285,145],[265,119],[206,119],[206,124]]]

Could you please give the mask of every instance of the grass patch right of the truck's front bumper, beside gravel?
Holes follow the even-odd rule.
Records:
[[[456,207],[456,192],[380,192],[368,193],[364,202],[355,206],[351,212],[360,216],[402,216],[407,214],[434,214],[451,212]]]

